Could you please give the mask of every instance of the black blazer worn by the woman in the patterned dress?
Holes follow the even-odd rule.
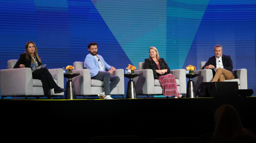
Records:
[[[163,58],[159,58],[158,62],[159,62],[159,65],[160,65],[160,70],[167,69],[167,73],[164,73],[163,75],[169,74],[170,73],[170,68],[168,67],[165,60]],[[152,69],[153,74],[154,74],[154,79],[157,79],[157,76],[160,75],[159,73],[156,72],[156,70],[159,70],[159,69],[157,67],[156,62],[154,62],[154,60],[152,60],[152,59],[151,60],[149,60],[149,58],[145,59],[143,69]]]

